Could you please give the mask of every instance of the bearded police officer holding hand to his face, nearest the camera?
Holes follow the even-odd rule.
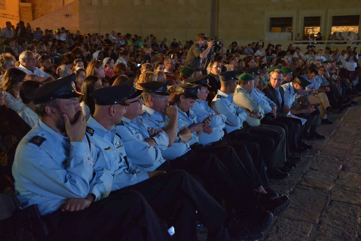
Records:
[[[171,240],[140,193],[107,197],[113,177],[95,165],[105,160],[85,137],[74,81],[72,74],[27,93],[40,120],[13,164],[22,206],[38,205],[50,231],[45,240]]]

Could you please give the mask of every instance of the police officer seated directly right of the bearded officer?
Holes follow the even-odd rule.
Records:
[[[223,226],[228,212],[188,173],[181,170],[144,172],[132,165],[121,136],[114,127],[121,123],[126,106],[131,105],[126,100],[129,92],[130,87],[123,84],[104,87],[91,94],[95,111],[87,122],[86,132],[100,155],[104,156],[107,164],[105,168],[112,173],[112,190],[121,188],[142,193],[159,216],[168,218],[179,240],[197,240],[195,210],[208,228],[209,240],[230,240]],[[235,224],[232,220],[228,222]],[[236,230],[232,231],[238,232],[237,229],[241,227],[235,226]]]

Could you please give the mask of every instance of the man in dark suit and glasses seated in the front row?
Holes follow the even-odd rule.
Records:
[[[272,100],[276,106],[276,113],[265,116],[264,122],[271,124],[273,122],[280,122],[287,126],[291,136],[298,144],[297,150],[295,152],[302,152],[308,149],[312,149],[312,145],[308,145],[303,141],[303,138],[306,137],[305,125],[302,125],[301,121],[295,118],[287,117],[287,113],[284,113],[284,90],[281,86],[283,82],[283,72],[280,69],[280,65],[275,66],[267,70],[270,73],[270,82],[262,89],[264,94]],[[279,94],[278,94],[279,93]],[[274,125],[275,123],[273,123]]]

